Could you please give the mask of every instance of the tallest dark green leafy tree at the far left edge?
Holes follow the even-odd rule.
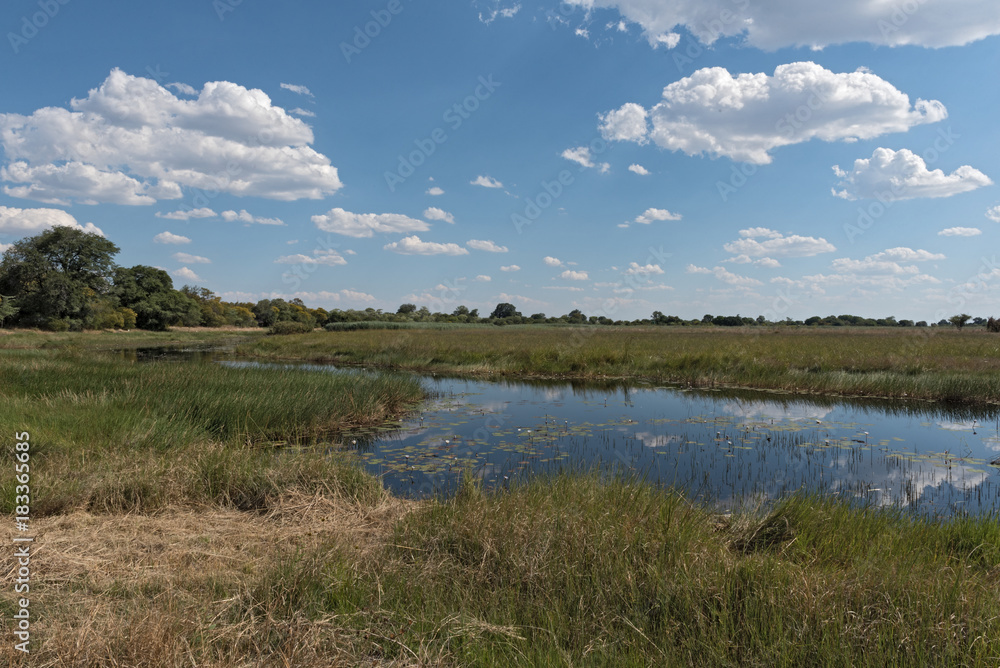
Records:
[[[94,299],[111,291],[118,251],[99,234],[64,226],[21,239],[0,261],[0,294],[17,298],[19,324],[82,328]]]

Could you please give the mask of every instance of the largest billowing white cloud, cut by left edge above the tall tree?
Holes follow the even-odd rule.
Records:
[[[67,204],[153,204],[182,188],[291,201],[342,186],[309,145],[311,128],[260,90],[209,82],[181,99],[156,81],[114,69],[70,109],[0,114],[14,197]]]

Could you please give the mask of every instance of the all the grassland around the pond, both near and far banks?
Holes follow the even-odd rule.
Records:
[[[467,477],[453,499],[408,501],[326,444],[408,410],[422,396],[413,380],[106,352],[238,344],[267,358],[744,386],[777,383],[783,366],[818,383],[850,364],[870,382],[883,374],[883,392],[910,394],[906,379],[930,392],[937,379],[934,398],[997,396],[940,393],[964,374],[997,386],[996,335],[942,331],[915,349],[907,336],[0,334],[6,540],[13,432],[28,431],[37,541],[32,654],[5,624],[0,665],[996,665],[996,517],[808,496],[723,516],[586,471],[491,495]],[[681,354],[690,375],[675,377]],[[904,359],[915,372],[892,364]],[[730,364],[758,375],[741,382]],[[15,603],[8,581],[0,615]]]

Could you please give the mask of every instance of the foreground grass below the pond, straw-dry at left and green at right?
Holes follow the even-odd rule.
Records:
[[[636,483],[41,520],[32,666],[927,666],[1000,656],[1000,524]],[[34,590],[33,590],[34,591]],[[0,597],[7,616],[7,592]],[[2,637],[0,661],[27,665]]]

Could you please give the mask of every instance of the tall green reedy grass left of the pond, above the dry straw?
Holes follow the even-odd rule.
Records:
[[[31,434],[36,514],[199,502],[264,508],[283,490],[380,486],[312,446],[422,397],[412,379],[131,363],[75,350],[0,357],[0,423]],[[303,449],[308,448],[308,449]],[[0,479],[0,510],[13,503]]]

